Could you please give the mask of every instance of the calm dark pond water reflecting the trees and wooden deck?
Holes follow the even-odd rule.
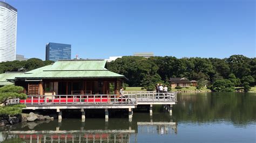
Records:
[[[122,112],[121,112],[122,113]],[[0,128],[0,142],[256,142],[256,94],[178,95],[172,116],[163,106],[128,117],[62,119]]]

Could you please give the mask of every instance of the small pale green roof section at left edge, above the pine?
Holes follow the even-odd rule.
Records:
[[[9,72],[0,74],[0,86],[14,84],[7,81],[7,79],[14,80],[16,76],[24,75],[24,72]]]

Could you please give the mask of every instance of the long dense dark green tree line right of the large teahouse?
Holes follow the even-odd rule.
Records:
[[[256,79],[256,58],[244,55],[225,59],[123,56],[107,63],[107,68],[129,78],[126,82],[130,87],[150,90],[156,83],[167,83],[170,77],[197,80],[198,86],[208,85],[215,91],[234,91],[234,87],[240,86],[247,89],[255,85]]]

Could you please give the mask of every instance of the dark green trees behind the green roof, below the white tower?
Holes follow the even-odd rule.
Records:
[[[50,65],[52,62],[53,61],[42,61],[37,58],[31,58],[26,61],[0,62],[0,74],[5,73],[6,71],[29,71]]]

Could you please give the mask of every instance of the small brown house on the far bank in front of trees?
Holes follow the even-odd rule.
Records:
[[[197,86],[197,81],[195,80],[190,81],[186,77],[171,77],[169,82],[172,88],[175,88],[177,86],[179,87]]]

